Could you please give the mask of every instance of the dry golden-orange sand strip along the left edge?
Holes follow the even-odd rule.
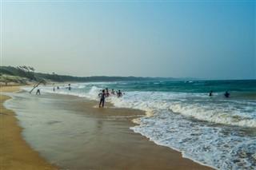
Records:
[[[59,169],[57,166],[46,162],[38,152],[35,152],[26,141],[22,139],[22,128],[18,126],[18,120],[15,113],[10,109],[3,107],[2,102],[10,97],[2,95],[3,92],[14,92],[19,89],[18,86],[1,87],[1,153],[0,169]]]

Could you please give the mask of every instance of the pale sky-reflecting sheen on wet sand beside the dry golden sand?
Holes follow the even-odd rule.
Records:
[[[38,97],[24,92],[8,95],[12,100],[5,105],[14,109],[19,124],[25,128],[22,135],[26,141],[54,163],[65,160],[66,165],[72,164],[73,155],[81,152],[82,145],[90,142],[87,136],[94,133],[88,127],[99,124],[79,114],[77,108],[72,109],[70,100],[81,102],[76,97]]]

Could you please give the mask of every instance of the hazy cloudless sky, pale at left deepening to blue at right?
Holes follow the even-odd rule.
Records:
[[[256,1],[0,3],[1,65],[78,77],[256,79]]]

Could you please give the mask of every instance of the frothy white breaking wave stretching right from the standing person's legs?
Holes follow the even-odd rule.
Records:
[[[186,117],[194,117],[201,121],[256,128],[254,105],[240,106],[240,108],[238,108],[236,105],[232,105],[232,103],[228,103],[229,105],[227,107],[225,106],[226,104],[222,105],[220,103],[191,103],[189,100],[186,100],[186,97],[182,100],[178,99],[183,96],[184,94],[177,93],[133,92],[121,99],[110,101],[118,107],[142,109],[146,112],[150,111],[151,113],[158,112],[159,110],[170,110],[173,113],[180,113]],[[200,102],[200,100],[198,102]],[[248,114],[248,110],[250,114]]]

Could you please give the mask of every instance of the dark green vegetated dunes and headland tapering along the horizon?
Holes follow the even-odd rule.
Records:
[[[65,75],[58,75],[56,73],[35,73],[35,69],[30,66],[1,66],[0,67],[0,82],[2,83],[18,83],[22,85],[30,84],[30,82],[42,82],[47,81],[77,81],[77,82],[89,82],[89,81],[174,81],[178,79],[170,77],[106,77],[106,76],[94,76],[94,77],[72,77]]]

